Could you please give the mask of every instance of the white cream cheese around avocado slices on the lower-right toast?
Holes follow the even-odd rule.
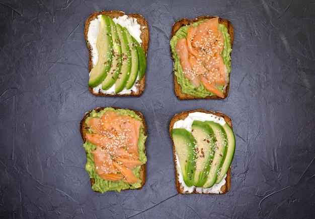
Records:
[[[225,124],[224,119],[221,117],[215,116],[213,114],[195,112],[195,113],[190,113],[188,115],[188,117],[185,118],[185,120],[176,121],[174,126],[173,126],[173,129],[183,128],[183,129],[186,129],[186,130],[191,132],[191,125],[193,124],[194,120],[198,120],[198,121],[202,121],[202,122],[213,121],[213,122],[218,123],[220,125]],[[178,178],[179,183],[182,184],[182,186],[184,187],[184,192],[188,192],[188,193],[192,193],[194,190],[196,190],[199,193],[219,194],[221,186],[223,186],[226,182],[225,181],[226,174],[225,174],[225,176],[221,182],[219,182],[218,184],[214,184],[212,187],[207,188],[207,189],[204,189],[202,187],[195,187],[195,186],[189,187],[189,186],[187,186],[184,182],[184,179],[183,179],[182,169],[181,169],[181,166],[179,164],[177,154],[176,154],[176,170],[177,170],[177,173],[179,174],[179,178]]]

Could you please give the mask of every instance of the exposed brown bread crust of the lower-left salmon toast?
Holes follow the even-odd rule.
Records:
[[[97,113],[99,113],[105,108],[107,108],[107,107],[98,107],[98,108],[95,108],[95,111]],[[111,108],[120,109],[119,107],[113,107],[113,106],[111,106]],[[135,111],[134,109],[130,109],[130,108],[124,108],[124,109],[128,109],[130,111],[135,112],[135,114],[138,115],[141,118],[142,124],[143,124],[144,135],[146,136],[146,124],[145,124],[145,120],[144,120],[143,115],[140,112]],[[87,126],[85,121],[90,116],[92,111],[93,111],[93,109],[91,111],[87,112],[85,114],[85,116],[83,117],[83,119],[81,120],[81,122],[80,122],[80,133],[81,133],[81,137],[82,137],[83,143],[85,143],[87,141],[86,133],[89,131],[89,127]],[[144,153],[146,153],[145,149],[144,149]],[[145,163],[143,165],[141,165],[140,180],[141,180],[141,186],[139,188],[137,188],[137,189],[141,189],[143,187],[143,185],[145,184],[145,182],[146,182],[146,166],[145,166]],[[93,186],[93,184],[95,183],[95,179],[94,178],[90,178],[90,181],[91,181],[91,186]],[[131,189],[127,189],[127,190],[131,190]],[[98,191],[96,191],[96,192],[98,192]]]

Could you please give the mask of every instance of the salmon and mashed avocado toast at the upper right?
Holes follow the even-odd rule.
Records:
[[[179,99],[223,99],[229,91],[234,31],[223,18],[202,16],[174,23],[171,53]]]

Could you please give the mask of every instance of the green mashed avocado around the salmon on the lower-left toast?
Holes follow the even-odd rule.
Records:
[[[90,113],[90,117],[88,117],[86,119],[89,120],[92,117],[96,117],[96,118],[102,118],[103,114],[107,111],[114,111],[116,113],[118,113],[119,115],[128,115],[131,118],[134,118],[136,120],[139,120],[142,122],[141,118],[136,115],[135,112],[130,111],[128,109],[114,109],[111,107],[107,107],[105,109],[103,109],[100,112],[96,112],[95,110],[93,110]],[[139,139],[138,139],[138,152],[139,152],[139,160],[142,161],[142,163],[146,162],[146,155],[144,153],[145,150],[145,139],[146,136],[144,135],[144,127],[141,126],[140,128],[140,134],[139,134]],[[93,133],[92,131],[89,130],[90,133]],[[89,142],[88,140],[83,144],[83,147],[86,150],[87,153],[87,163],[86,163],[86,171],[88,172],[90,178],[94,178],[95,179],[95,183],[92,186],[92,189],[94,191],[98,191],[101,193],[107,192],[107,191],[118,191],[120,192],[121,190],[125,190],[125,189],[136,189],[139,188],[141,186],[141,181],[139,183],[133,183],[133,184],[129,184],[129,183],[125,183],[123,181],[119,181],[119,182],[112,182],[112,181],[107,181],[104,180],[102,178],[99,177],[98,174],[96,174],[94,172],[95,169],[95,165],[94,165],[94,160],[93,160],[93,154],[92,151],[96,149],[96,145],[92,144],[91,142]],[[140,170],[141,170],[141,166],[136,167],[135,169],[133,169],[133,173],[134,175],[140,179]]]

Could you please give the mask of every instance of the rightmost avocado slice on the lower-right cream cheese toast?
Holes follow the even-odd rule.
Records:
[[[234,152],[235,152],[235,136],[234,136],[233,130],[226,123],[222,127],[223,127],[223,129],[226,133],[226,137],[227,137],[227,150],[226,150],[225,156],[223,157],[223,161],[222,161],[223,164],[222,164],[221,171],[220,171],[215,183],[221,182],[222,179],[224,178],[228,168],[231,165],[231,162],[232,162],[233,156],[234,156]]]

